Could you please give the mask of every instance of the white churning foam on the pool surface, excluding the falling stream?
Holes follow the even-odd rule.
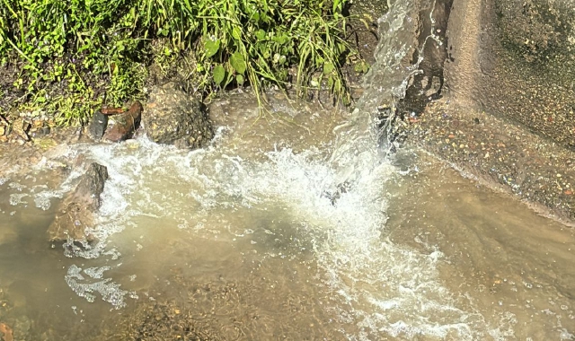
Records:
[[[386,162],[361,170],[337,198],[332,192],[338,188],[338,174],[314,149],[298,154],[275,150],[265,153],[267,161],[254,162],[229,153],[225,144],[186,153],[145,137],[129,144],[79,148],[86,160],[105,165],[110,179],[97,226],[90,231],[99,242],[75,249],[74,257],[121,258],[122,250],[111,248],[109,237],[128,226],[137,228],[138,216],[153,215],[173,221],[175,228],[202,232],[207,228],[204,217],[214,210],[282,205],[295,217],[299,238],[313,245],[323,283],[341,302],[331,309],[338,311],[341,322],[363,330],[349,339],[381,333],[474,340],[500,333],[499,328],[489,332],[478,312],[457,306],[440,284],[439,251],[420,254],[385,238],[385,181],[396,171]],[[248,227],[219,228],[234,238],[253,232]],[[115,307],[123,306],[129,292],[104,279],[107,270],[89,268],[83,273],[78,264],[68,269],[66,282],[86,300],[99,295]]]

